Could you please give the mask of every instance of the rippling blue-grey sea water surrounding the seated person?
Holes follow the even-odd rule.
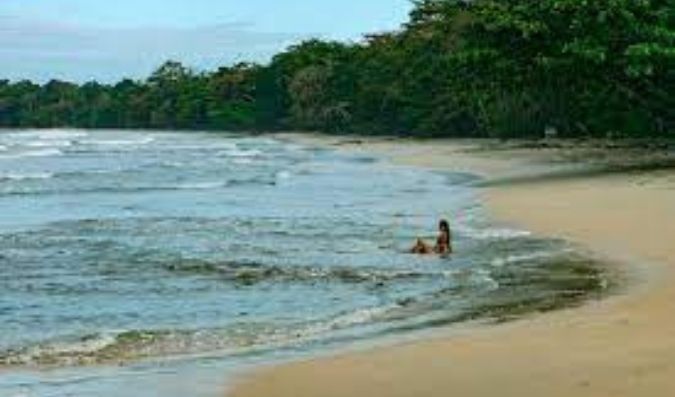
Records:
[[[0,148],[3,396],[218,395],[227,368],[607,285],[565,243],[491,225],[466,174],[234,134]],[[405,254],[443,216],[459,254]]]

